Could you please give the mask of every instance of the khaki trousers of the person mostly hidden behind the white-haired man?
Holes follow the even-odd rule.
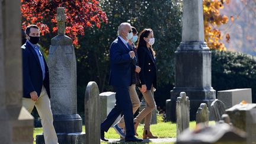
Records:
[[[137,109],[140,107],[140,100],[139,97],[137,95],[136,92],[136,85],[133,84],[129,87],[129,94],[130,94],[130,99],[132,101],[132,105],[133,105],[133,114],[135,114],[135,112],[137,111]],[[119,126],[124,128],[125,124],[124,124],[124,117],[121,117],[121,119],[119,120]]]

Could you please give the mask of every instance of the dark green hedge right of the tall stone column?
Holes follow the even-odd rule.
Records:
[[[212,87],[216,91],[251,88],[256,102],[256,57],[238,52],[212,51]]]

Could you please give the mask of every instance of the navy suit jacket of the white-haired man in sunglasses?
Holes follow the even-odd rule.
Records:
[[[130,57],[127,48],[119,37],[110,46],[110,79],[109,85],[129,86],[132,84],[132,68],[136,65],[136,57]]]

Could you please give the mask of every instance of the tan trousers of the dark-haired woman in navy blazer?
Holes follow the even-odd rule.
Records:
[[[139,88],[141,91],[141,88]],[[146,92],[142,92],[142,95],[146,102],[146,108],[140,111],[139,115],[135,118],[136,123],[140,123],[143,118],[145,118],[144,129],[149,130],[152,118],[152,111],[156,108],[155,100],[153,98],[153,86],[151,90],[146,90]]]

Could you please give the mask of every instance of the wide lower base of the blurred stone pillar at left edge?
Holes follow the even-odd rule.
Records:
[[[33,143],[33,116],[24,107],[0,108],[0,114],[0,143]]]

